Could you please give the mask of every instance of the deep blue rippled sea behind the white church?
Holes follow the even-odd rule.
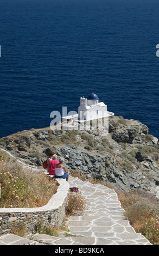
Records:
[[[159,137],[158,0],[0,0],[0,137],[96,93]]]

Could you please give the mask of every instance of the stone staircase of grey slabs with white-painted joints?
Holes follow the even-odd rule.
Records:
[[[44,234],[32,234],[25,243],[33,245],[151,245],[140,233],[136,233],[124,217],[124,210],[114,190],[100,185],[69,177],[69,187],[78,187],[86,198],[86,209],[79,216],[69,216],[67,232],[59,232],[59,237]],[[1,236],[9,241],[9,236]],[[6,244],[22,244],[20,237]],[[21,237],[22,239],[22,237]],[[0,243],[1,243],[0,242]]]

